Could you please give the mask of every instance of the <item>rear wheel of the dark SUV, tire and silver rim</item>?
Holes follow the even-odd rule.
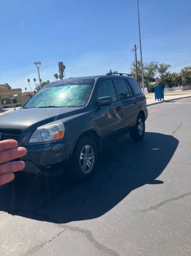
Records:
[[[130,131],[130,136],[134,141],[141,141],[145,135],[145,117],[143,114],[139,114],[137,122],[133,129]]]

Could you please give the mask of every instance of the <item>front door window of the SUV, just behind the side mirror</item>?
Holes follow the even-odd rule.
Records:
[[[114,89],[114,84],[112,80],[105,80],[100,83],[97,97],[112,97],[113,102],[117,101],[116,90]]]

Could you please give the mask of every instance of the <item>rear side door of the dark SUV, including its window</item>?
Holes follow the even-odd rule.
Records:
[[[124,78],[116,77],[113,81],[116,86],[118,100],[121,101],[124,111],[124,127],[131,126],[134,124],[137,115],[136,97],[133,96]]]

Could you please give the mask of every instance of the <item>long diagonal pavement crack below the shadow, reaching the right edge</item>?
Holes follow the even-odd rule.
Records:
[[[167,200],[164,200],[164,201],[161,201],[160,203],[158,204],[155,204],[155,205],[152,205],[151,207],[148,207],[148,208],[143,208],[143,209],[139,209],[139,210],[136,210],[135,212],[132,212],[131,214],[127,215],[127,216],[124,216],[122,217],[120,220],[118,220],[115,224],[121,222],[122,220],[124,220],[125,218],[129,218],[131,217],[133,214],[135,213],[146,213],[146,212],[151,212],[152,210],[156,210],[158,209],[159,207],[162,207],[164,204],[168,204],[172,201],[177,201],[177,200],[180,200],[186,196],[191,196],[191,192],[188,192],[188,193],[184,193],[180,196],[177,196],[177,197],[171,197]]]

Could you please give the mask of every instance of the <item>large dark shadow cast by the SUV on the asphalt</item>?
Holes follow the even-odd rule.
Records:
[[[0,210],[13,215],[55,223],[102,216],[136,188],[160,185],[164,171],[179,144],[172,135],[146,133],[143,141],[129,135],[103,148],[91,180],[73,184],[63,177],[19,173],[0,188]]]

